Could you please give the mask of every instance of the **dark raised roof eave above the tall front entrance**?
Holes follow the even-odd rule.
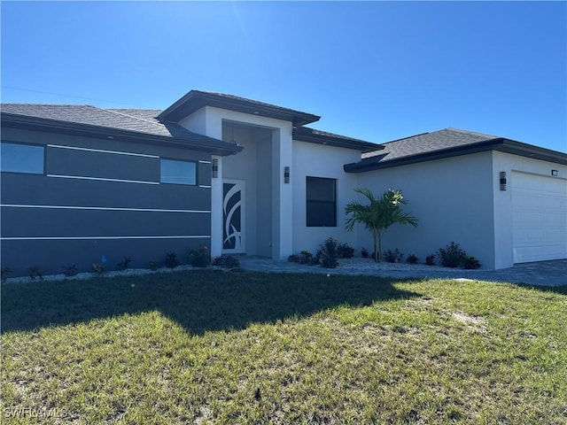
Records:
[[[198,111],[204,106],[213,106],[220,109],[228,109],[229,111],[243,112],[251,115],[260,115],[276,120],[291,121],[293,125],[304,126],[306,124],[321,120],[321,117],[307,112],[299,112],[292,110],[282,110],[278,107],[272,107],[268,104],[256,104],[245,99],[236,99],[231,97],[221,97],[213,93],[206,93],[198,90],[191,90],[185,96],[177,100],[169,106],[164,112],[158,116],[158,120],[177,122],[182,120],[190,113]],[[285,109],[285,108],[283,108]]]

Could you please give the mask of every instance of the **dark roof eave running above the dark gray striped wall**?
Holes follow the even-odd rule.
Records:
[[[106,139],[112,138],[113,140],[122,140],[124,142],[159,144],[160,146],[206,151],[220,156],[234,155],[243,149],[242,146],[237,144],[226,143],[213,138],[209,138],[206,142],[179,139],[163,135],[151,135],[148,133],[123,130],[120,128],[107,128],[90,124],[28,117],[26,115],[12,114],[8,112],[2,112],[1,117],[2,119],[0,120],[0,124],[2,127],[8,128],[21,128],[35,131],[46,131],[49,133],[82,135],[86,137]]]

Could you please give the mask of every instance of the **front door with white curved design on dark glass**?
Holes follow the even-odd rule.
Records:
[[[222,181],[222,251],[245,253],[245,181]]]

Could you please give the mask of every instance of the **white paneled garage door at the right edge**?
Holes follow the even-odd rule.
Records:
[[[567,181],[513,172],[514,262],[567,258]]]

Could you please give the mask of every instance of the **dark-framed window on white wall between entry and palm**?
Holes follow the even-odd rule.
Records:
[[[307,227],[337,227],[337,181],[307,177]]]

